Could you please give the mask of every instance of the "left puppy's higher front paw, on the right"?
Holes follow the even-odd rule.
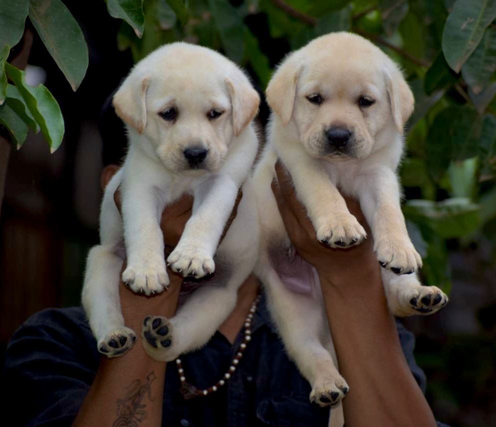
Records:
[[[177,245],[168,256],[167,264],[172,271],[197,279],[215,271],[215,263],[210,254],[194,245]]]

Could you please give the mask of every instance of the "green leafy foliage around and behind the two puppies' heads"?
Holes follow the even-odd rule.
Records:
[[[164,43],[189,41],[223,52],[247,68],[261,89],[285,53],[319,35],[351,31],[369,39],[401,64],[415,95],[400,175],[425,282],[449,291],[448,248],[486,239],[494,257],[496,239],[486,231],[496,223],[496,0],[106,3],[109,14],[122,20],[118,47],[130,49],[135,61]],[[0,6],[0,124],[20,146],[28,128],[43,131],[44,117],[45,127],[54,127],[43,132],[53,150],[61,141],[55,132],[63,126],[61,115],[53,103],[41,111],[32,99],[36,91],[14,78],[11,66],[5,75],[8,50],[21,38],[28,15],[75,90],[87,68],[86,45],[60,0],[19,0],[15,8],[0,0]],[[46,10],[63,17],[59,26],[41,13]],[[267,38],[280,42],[278,49]]]

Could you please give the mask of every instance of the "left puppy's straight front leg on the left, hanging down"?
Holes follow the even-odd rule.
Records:
[[[169,284],[159,222],[164,204],[159,192],[146,179],[126,180],[124,177],[122,220],[127,268],[122,273],[122,281],[134,292],[151,295],[163,291]]]

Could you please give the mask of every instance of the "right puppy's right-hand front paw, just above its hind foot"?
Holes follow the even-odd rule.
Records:
[[[410,274],[422,266],[422,258],[408,237],[391,235],[378,238],[374,251],[379,264],[395,274]]]

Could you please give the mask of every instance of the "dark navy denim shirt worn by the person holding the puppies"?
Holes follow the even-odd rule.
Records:
[[[413,358],[413,335],[399,322],[397,329],[411,372],[424,391],[425,376]],[[327,426],[329,409],[310,403],[310,385],[287,358],[264,296],[251,330],[236,371],[212,394],[184,400],[175,363],[170,363],[163,394],[164,427]],[[214,384],[226,372],[241,339],[239,334],[231,345],[216,332],[202,349],[181,356],[187,381],[200,389]],[[82,308],[47,309],[29,318],[6,351],[4,402],[18,420],[9,426],[71,425],[99,359]]]

